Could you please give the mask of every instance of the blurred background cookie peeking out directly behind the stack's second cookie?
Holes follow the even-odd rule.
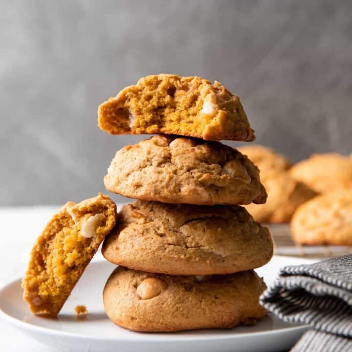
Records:
[[[237,148],[243,155],[248,158],[263,172],[285,171],[290,166],[290,161],[282,154],[276,153],[272,148],[264,147],[259,144],[242,146]]]

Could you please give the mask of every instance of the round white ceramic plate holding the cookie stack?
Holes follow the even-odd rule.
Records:
[[[257,272],[270,285],[281,266],[311,262],[274,256]],[[92,262],[57,319],[32,315],[22,300],[21,280],[13,281],[0,290],[0,316],[44,344],[58,350],[70,347],[79,351],[286,351],[306,330],[304,326],[283,323],[272,315],[254,326],[226,330],[174,333],[126,330],[110,322],[102,303],[102,289],[114,267],[106,261]],[[87,306],[89,313],[85,320],[74,313],[77,305]]]

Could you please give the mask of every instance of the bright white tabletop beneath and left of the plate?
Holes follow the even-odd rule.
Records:
[[[0,287],[23,276],[30,250],[45,224],[60,206],[0,208]],[[100,250],[93,260],[102,258]],[[47,347],[0,319],[0,352],[73,352]],[[93,352],[93,351],[89,351]]]

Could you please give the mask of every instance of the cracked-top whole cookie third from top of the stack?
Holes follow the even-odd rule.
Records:
[[[170,275],[229,274],[266,264],[267,228],[239,205],[200,206],[136,200],[103,243],[104,257],[135,270]]]

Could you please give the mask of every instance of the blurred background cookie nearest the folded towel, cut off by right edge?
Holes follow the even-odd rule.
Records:
[[[293,215],[291,233],[302,244],[352,245],[352,188],[302,204]]]

